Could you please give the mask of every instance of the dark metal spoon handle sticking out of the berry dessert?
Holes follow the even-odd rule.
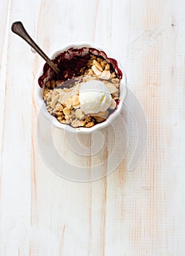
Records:
[[[60,73],[60,69],[52,62],[52,60],[43,52],[41,48],[39,48],[38,45],[36,45],[36,42],[28,35],[27,31],[25,30],[23,23],[20,21],[16,21],[15,23],[12,23],[12,31],[17,34],[18,36],[22,37],[25,42],[28,42],[29,45],[31,45],[34,50],[36,50],[37,53],[39,53],[40,56],[47,62],[47,64],[50,65],[50,67],[55,70],[57,74]]]

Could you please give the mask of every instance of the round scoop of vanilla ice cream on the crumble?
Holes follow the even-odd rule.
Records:
[[[85,114],[106,111],[111,99],[109,89],[100,80],[90,80],[80,86],[80,108]]]

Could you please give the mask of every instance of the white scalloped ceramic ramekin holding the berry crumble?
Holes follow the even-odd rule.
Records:
[[[98,47],[97,45],[94,45],[91,42],[72,42],[68,45],[64,45],[62,48],[55,50],[54,53],[52,53],[50,55],[50,59],[55,59],[55,56],[58,55],[58,53],[62,53],[65,50],[68,50],[69,48],[95,48],[97,50],[103,50],[102,48]],[[108,58],[112,58],[112,59],[116,59],[114,56],[112,56],[112,54],[109,52],[107,52],[107,50],[103,50],[103,52],[106,53],[106,55],[108,56]],[[117,59],[116,59],[117,60]],[[122,71],[122,80],[120,83],[120,96],[119,96],[119,105],[117,106],[117,109],[114,110],[113,113],[111,113],[111,115],[106,119],[106,121],[103,121],[100,124],[95,124],[95,126],[90,127],[90,128],[86,128],[86,127],[79,127],[79,128],[74,128],[69,126],[68,124],[61,124],[57,118],[55,118],[54,116],[51,116],[50,113],[47,111],[47,108],[44,104],[42,95],[43,95],[43,89],[39,86],[38,83],[38,79],[39,77],[43,74],[43,67],[44,67],[44,63],[42,64],[42,66],[39,69],[38,74],[36,75],[36,102],[39,105],[39,110],[42,111],[42,114],[51,122],[52,125],[54,125],[55,127],[59,128],[59,129],[66,129],[66,131],[68,132],[77,132],[77,133],[92,133],[95,132],[99,129],[102,129],[104,127],[107,127],[109,124],[111,124],[111,122],[114,120],[114,118],[116,118],[117,116],[119,116],[119,114],[121,113],[122,110],[122,105],[123,105],[123,101],[127,95],[127,78],[125,75],[124,70],[122,69],[122,65],[120,64],[120,62],[117,60],[118,63],[118,67],[119,69]]]

